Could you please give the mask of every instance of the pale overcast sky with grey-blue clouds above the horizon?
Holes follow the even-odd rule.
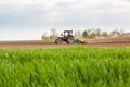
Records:
[[[130,32],[130,0],[0,0],[0,40],[92,27]]]

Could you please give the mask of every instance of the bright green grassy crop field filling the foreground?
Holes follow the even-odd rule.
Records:
[[[130,87],[130,48],[0,50],[0,87]]]

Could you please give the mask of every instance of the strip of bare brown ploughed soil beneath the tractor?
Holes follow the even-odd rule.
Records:
[[[1,41],[0,49],[36,49],[36,48],[60,48],[60,47],[130,47],[130,37],[87,39],[87,44],[55,45],[44,41]]]

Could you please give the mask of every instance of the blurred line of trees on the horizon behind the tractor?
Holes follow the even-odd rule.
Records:
[[[55,28],[50,30],[50,35],[47,36],[47,34],[43,34],[41,39],[44,41],[54,41],[56,39],[57,36],[60,36],[60,34],[57,33],[57,30]],[[110,33],[104,30],[102,32],[100,28],[90,28],[90,29],[86,29],[83,32],[80,30],[75,30],[74,32],[74,36],[75,38],[95,38],[95,37],[110,37],[110,35],[117,35],[117,36],[122,36],[123,35],[123,30],[122,29],[114,29]]]

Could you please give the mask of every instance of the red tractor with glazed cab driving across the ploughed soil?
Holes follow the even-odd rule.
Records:
[[[73,30],[64,30],[64,34],[62,34],[61,37],[57,37],[57,39],[55,40],[55,44],[62,44],[63,41],[66,41],[67,44],[75,42]]]

